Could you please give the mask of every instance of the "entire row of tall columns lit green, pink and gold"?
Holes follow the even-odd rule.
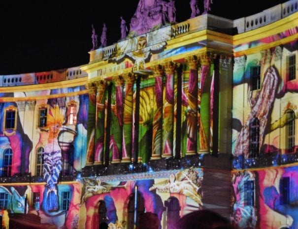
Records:
[[[212,55],[194,55],[183,64],[151,66],[150,76],[127,73],[86,85],[90,98],[87,165],[140,161],[139,147],[151,149],[150,160],[208,152],[211,136],[206,117],[214,60]],[[154,98],[144,99],[144,82],[150,84],[150,92],[154,90],[147,93]],[[199,110],[202,97],[206,110]],[[144,105],[150,112],[149,122],[140,117]],[[205,112],[204,127],[201,112]],[[138,145],[140,125],[150,129],[150,146]]]

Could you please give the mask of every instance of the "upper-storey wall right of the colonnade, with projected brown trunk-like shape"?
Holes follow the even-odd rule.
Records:
[[[235,168],[253,164],[250,149],[249,128],[253,119],[259,123],[259,147],[257,155],[272,155],[272,164],[280,160],[287,162],[293,149],[286,144],[286,127],[291,119],[288,113],[297,112],[298,103],[294,99],[298,92],[296,80],[289,80],[286,64],[289,55],[297,50],[298,42],[285,44],[236,59],[233,72],[233,141],[232,152],[236,156]],[[252,69],[260,66],[260,89],[252,85]],[[243,94],[244,92],[244,94]],[[240,109],[243,107],[244,109]],[[283,137],[284,136],[284,137]],[[250,161],[248,161],[250,160]]]

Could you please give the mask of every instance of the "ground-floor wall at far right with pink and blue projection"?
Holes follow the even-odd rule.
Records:
[[[235,172],[232,177],[233,215],[240,228],[298,227],[298,167]],[[255,204],[247,204],[247,184],[252,181]],[[288,182],[286,182],[288,181]],[[290,195],[291,194],[291,195]]]

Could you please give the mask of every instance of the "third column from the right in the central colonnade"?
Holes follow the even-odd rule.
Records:
[[[173,62],[166,63],[166,85],[164,90],[163,107],[163,158],[173,155],[174,134],[174,73],[176,65]]]

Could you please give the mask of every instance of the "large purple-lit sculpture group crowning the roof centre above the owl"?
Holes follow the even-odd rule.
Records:
[[[167,4],[164,0],[140,0],[131,19],[130,32],[140,35],[154,27],[166,25],[169,18]],[[170,17],[173,19],[172,15]]]

